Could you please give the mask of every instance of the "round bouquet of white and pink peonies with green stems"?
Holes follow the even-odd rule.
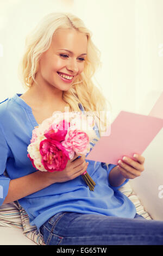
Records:
[[[32,132],[27,156],[33,167],[43,172],[60,172],[75,153],[80,156],[89,153],[90,143],[98,140],[94,125],[95,119],[82,112],[55,111]],[[93,191],[96,184],[90,175],[85,171],[82,177]]]

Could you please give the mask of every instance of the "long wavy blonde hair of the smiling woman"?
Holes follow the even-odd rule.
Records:
[[[106,98],[101,90],[92,82],[95,71],[101,66],[101,52],[93,44],[91,31],[85,27],[84,22],[71,13],[51,13],[43,17],[39,24],[26,37],[24,54],[18,66],[18,77],[24,88],[29,88],[35,81],[35,75],[39,70],[39,59],[43,52],[51,46],[52,36],[58,29],[76,29],[87,36],[87,57],[84,70],[78,75],[71,88],[63,92],[63,100],[68,103],[71,111],[80,111],[79,103],[85,112],[93,113],[97,121],[99,136],[101,127],[98,121],[106,127],[106,113],[108,112]],[[99,113],[104,113],[101,120]],[[103,130],[104,132],[104,130]],[[108,169],[108,164],[105,163]]]

